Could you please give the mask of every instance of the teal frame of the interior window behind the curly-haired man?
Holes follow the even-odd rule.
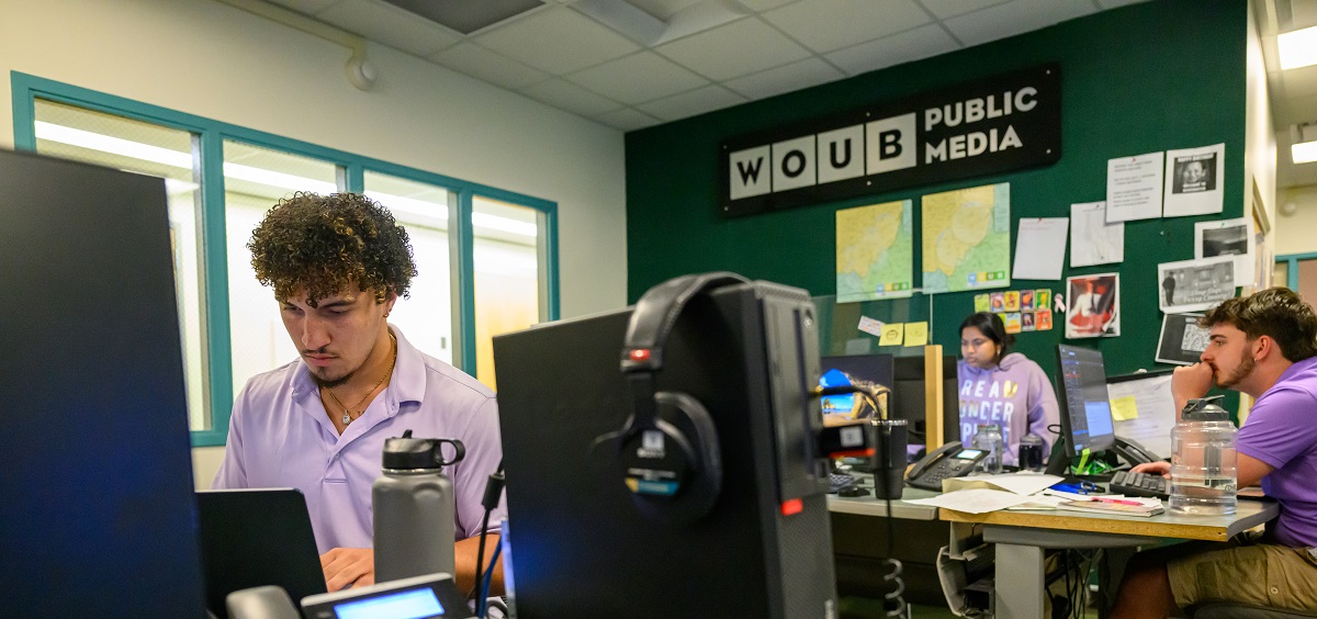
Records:
[[[338,166],[345,187],[341,191],[361,194],[366,171],[389,174],[407,180],[440,186],[457,196],[456,233],[450,234],[457,248],[452,265],[453,294],[460,299],[457,329],[461,333],[454,365],[475,375],[475,269],[474,230],[471,208],[475,198],[506,202],[539,212],[540,278],[544,292],[540,299],[540,319],[558,319],[558,227],[557,203],[514,191],[473,183],[443,174],[407,167],[387,161],[331,149],[300,140],[249,129],[229,122],[205,119],[151,105],[116,95],[82,88],[18,71],[9,74],[13,94],[13,142],[18,150],[36,151],[37,99],[63,103],[95,112],[182,129],[199,136],[202,159],[202,256],[205,263],[203,288],[209,385],[211,428],[192,432],[192,446],[219,446],[228,440],[229,414],[233,410],[233,367],[229,333],[228,263],[225,252],[224,203],[224,141],[237,141],[284,153],[311,157]]]

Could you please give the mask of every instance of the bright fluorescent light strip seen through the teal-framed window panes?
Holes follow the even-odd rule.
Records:
[[[119,137],[103,136],[100,133],[74,129],[63,125],[55,125],[40,120],[36,122],[36,125],[37,125],[36,126],[37,137],[41,140],[67,144],[70,146],[80,146],[84,149],[99,150],[101,153],[116,154],[120,157],[128,157],[133,159],[149,161],[165,166],[182,167],[184,170],[192,169],[191,153],[179,153],[178,150],[163,149],[159,146],[151,146],[149,144],[134,142]],[[241,163],[225,162],[224,175],[228,178],[248,180],[270,187],[279,187],[284,190],[315,191],[317,194],[333,194],[338,191],[338,186],[335,183],[327,183],[324,180],[312,180],[309,178],[277,173],[261,167],[244,166]],[[391,194],[381,194],[375,191],[367,191],[366,195],[379,202],[381,204],[385,204],[390,209],[396,209],[400,212],[417,215],[427,219],[439,219],[439,220],[448,219],[448,211],[440,204],[424,200],[415,200],[411,198],[395,196]],[[528,237],[535,237],[539,233],[536,224],[516,221],[507,217],[499,217],[495,215],[485,215],[485,213],[471,213],[471,225],[490,230],[507,232],[511,234],[522,234]]]

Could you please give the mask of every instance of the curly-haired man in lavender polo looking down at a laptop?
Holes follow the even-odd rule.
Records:
[[[473,590],[481,498],[503,456],[498,406],[493,391],[387,323],[416,275],[407,230],[361,195],[294,194],[270,209],[248,249],[300,358],[238,394],[213,486],[300,490],[328,589],[370,585],[370,493],[385,439],[406,429],[458,439],[466,457],[445,473],[456,490],[457,583]],[[490,522],[502,516],[499,507]],[[491,535],[486,554],[497,547]]]

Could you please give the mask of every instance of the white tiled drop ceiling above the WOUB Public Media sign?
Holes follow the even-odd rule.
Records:
[[[267,1],[631,130],[1142,0],[544,0],[465,36],[383,0]]]

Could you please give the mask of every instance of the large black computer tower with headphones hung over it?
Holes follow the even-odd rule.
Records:
[[[672,323],[656,387],[702,403],[722,452],[720,491],[689,523],[637,510],[601,439],[632,414],[619,370],[631,313],[494,338],[516,615],[835,618],[806,292],[722,286]]]

